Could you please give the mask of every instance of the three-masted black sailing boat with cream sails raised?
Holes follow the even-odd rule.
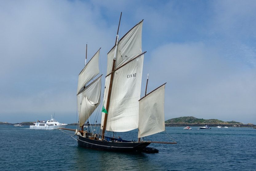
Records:
[[[141,48],[142,24],[143,20],[118,40],[119,20],[115,46],[108,52],[101,131],[99,134],[89,133],[87,130],[84,131],[85,121],[100,103],[101,76],[87,85],[99,74],[99,51],[79,74],[77,107],[80,128],[75,133],[79,146],[111,151],[147,151],[156,153],[158,152],[157,149],[147,146],[151,143],[176,144],[176,142],[152,142],[143,141],[142,139],[142,137],[165,130],[165,84],[148,94],[145,92],[145,96],[140,98],[143,60],[146,53],[142,52]],[[133,129],[138,129],[137,142],[105,136],[105,131],[127,132]]]

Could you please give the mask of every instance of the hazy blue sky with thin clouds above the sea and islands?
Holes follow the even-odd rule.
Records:
[[[144,19],[142,95],[166,85],[165,119],[256,124],[255,1],[1,1],[0,121],[74,123],[78,74]],[[104,82],[104,80],[103,80]]]

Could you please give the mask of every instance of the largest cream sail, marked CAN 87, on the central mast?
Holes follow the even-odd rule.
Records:
[[[128,62],[114,73],[106,130],[125,132],[138,128],[139,99],[144,54]],[[108,96],[110,75],[106,77],[104,106]],[[102,113],[103,125],[105,113]],[[102,127],[101,127],[102,129]]]

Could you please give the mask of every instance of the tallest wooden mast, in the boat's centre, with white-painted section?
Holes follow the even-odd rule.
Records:
[[[117,29],[117,34],[116,34],[115,54],[114,54],[114,59],[113,59],[111,75],[110,75],[110,82],[109,82],[109,88],[108,88],[108,99],[107,99],[107,105],[106,105],[106,110],[107,111],[108,111],[108,108],[109,108],[109,101],[110,101],[110,95],[111,95],[111,90],[112,90],[113,76],[114,76],[114,72],[115,72],[116,54],[117,54],[117,46],[118,46],[118,31],[119,31],[121,17],[122,17],[122,12],[121,12],[121,15],[120,15],[118,29]],[[103,122],[103,129],[102,129],[102,137],[101,137],[102,140],[104,140],[104,138],[105,138],[105,130],[106,130],[107,118],[108,118],[108,114],[105,113],[104,122]]]

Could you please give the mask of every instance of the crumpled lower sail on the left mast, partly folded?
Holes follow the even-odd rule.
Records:
[[[101,76],[77,95],[79,125],[82,126],[100,104]]]

